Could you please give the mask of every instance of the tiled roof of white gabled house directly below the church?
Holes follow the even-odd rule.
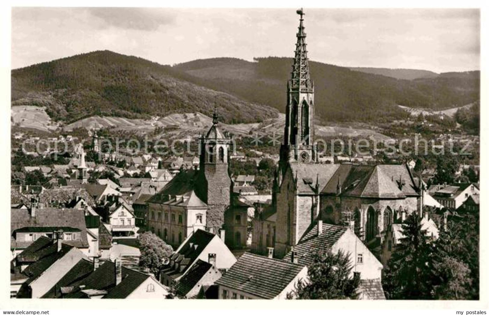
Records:
[[[328,251],[343,236],[347,227],[323,223],[323,232],[317,235],[317,224],[303,236],[294,249],[297,253],[299,264],[310,265],[314,251]],[[290,261],[292,253],[289,252],[283,259]]]

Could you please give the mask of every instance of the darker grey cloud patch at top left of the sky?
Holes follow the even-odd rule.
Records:
[[[161,25],[172,24],[175,20],[171,9],[159,8],[89,8],[95,18],[103,20],[104,27],[117,27],[141,31],[156,31]]]

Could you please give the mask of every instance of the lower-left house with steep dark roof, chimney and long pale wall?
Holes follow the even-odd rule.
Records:
[[[74,246],[57,239],[55,250],[29,265],[22,274],[29,278],[22,283],[17,298],[39,298],[51,289],[67,272],[86,256]]]

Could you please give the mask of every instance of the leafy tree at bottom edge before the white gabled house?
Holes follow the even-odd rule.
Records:
[[[312,254],[308,280],[299,280],[287,298],[298,299],[349,299],[356,298],[359,279],[350,277],[350,254],[339,251],[318,251]]]

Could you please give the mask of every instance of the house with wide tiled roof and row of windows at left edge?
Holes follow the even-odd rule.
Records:
[[[11,209],[10,249],[12,257],[22,253],[41,236],[53,238],[56,231],[63,231],[63,241],[88,254],[89,242],[83,209],[37,208]]]

